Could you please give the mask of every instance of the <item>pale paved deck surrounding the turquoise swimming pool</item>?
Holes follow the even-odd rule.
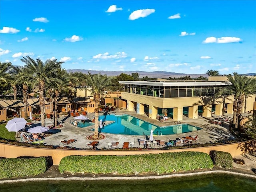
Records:
[[[101,112],[99,115],[101,114],[103,113]],[[139,114],[136,114],[135,112],[130,112],[126,110],[115,110],[112,112],[108,112],[108,114],[120,114],[120,115],[128,114],[136,118],[139,118],[141,120],[150,122],[151,124],[154,124],[157,126],[170,126],[170,125],[176,124],[176,121],[170,118],[166,122],[160,122],[159,120],[148,118],[146,115],[139,115]],[[88,113],[88,118],[90,118],[90,120],[92,120],[92,116],[93,116],[93,113]],[[70,123],[72,120],[73,120],[72,117],[60,116],[60,118],[58,118],[58,121],[63,122],[62,123],[63,127],[58,130],[54,130],[56,131],[56,133],[50,136],[47,136],[44,139],[44,144],[54,145],[54,146],[63,146],[61,141],[74,139],[76,140],[76,142],[72,143],[70,146],[76,147],[76,148],[84,148],[84,149],[88,148],[88,146],[86,145],[86,142],[92,142],[92,140],[87,140],[86,136],[93,134],[93,130],[91,129],[94,128],[94,126],[80,128],[78,126],[72,125]],[[46,126],[53,125],[53,119],[46,119],[45,122],[46,122]],[[186,116],[183,116],[183,120],[180,122],[181,124],[191,124],[193,126],[197,126],[202,129],[194,132],[188,132],[188,133],[153,136],[154,140],[164,140],[165,142],[168,142],[169,140],[176,140],[176,138],[182,138],[189,135],[191,136],[198,135],[199,143],[209,143],[209,142],[213,143],[216,140],[224,141],[225,137],[227,137],[228,140],[234,139],[234,136],[232,136],[232,134],[230,134],[228,130],[228,124],[226,122],[224,122],[222,126],[211,124],[209,122],[209,119],[203,118],[201,116],[198,116],[198,119],[190,119],[190,118],[187,118]],[[34,121],[33,126],[38,126],[38,125],[40,125],[40,122]],[[150,135],[134,136],[134,135],[107,134],[107,133],[102,133],[102,134],[104,134],[106,138],[102,140],[98,140],[99,141],[98,149],[111,148],[108,146],[108,144],[111,142],[118,142],[119,143],[118,148],[122,148],[123,142],[134,142],[134,147],[140,147],[138,140],[140,139],[147,140],[150,137]],[[18,140],[20,139],[18,138]],[[161,148],[161,147],[159,147],[158,145],[152,145],[152,148]]]

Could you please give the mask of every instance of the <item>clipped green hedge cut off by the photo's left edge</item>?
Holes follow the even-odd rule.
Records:
[[[45,157],[0,159],[0,178],[34,176],[46,172]]]

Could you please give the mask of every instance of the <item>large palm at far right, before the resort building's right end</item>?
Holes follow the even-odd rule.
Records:
[[[225,88],[220,90],[220,94],[233,95],[234,94],[234,104],[233,104],[233,125],[238,128],[238,123],[242,116],[242,108],[244,106],[244,100],[246,96],[256,94],[256,78],[248,78],[246,76],[240,76],[238,73],[234,72],[233,76],[231,74],[226,75],[228,81]]]

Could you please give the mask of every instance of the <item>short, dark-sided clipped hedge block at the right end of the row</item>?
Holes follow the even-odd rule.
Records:
[[[223,151],[210,151],[210,157],[214,165],[218,167],[223,167],[226,169],[232,168],[232,156],[228,152]]]

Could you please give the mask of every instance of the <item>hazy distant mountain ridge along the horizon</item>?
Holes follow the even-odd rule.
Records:
[[[118,76],[121,73],[129,74],[132,73],[138,73],[140,74],[140,78],[148,76],[148,78],[169,78],[169,77],[176,77],[179,78],[181,76],[190,76],[191,78],[197,78],[199,76],[203,76],[208,78],[207,74],[186,74],[186,73],[174,73],[174,72],[166,72],[166,71],[153,71],[153,72],[146,72],[146,71],[94,71],[94,70],[86,70],[86,69],[68,69],[67,72],[82,72],[84,74],[88,74],[90,72],[91,74],[102,74],[107,76]],[[256,76],[256,73],[248,73],[243,74],[246,76]]]

